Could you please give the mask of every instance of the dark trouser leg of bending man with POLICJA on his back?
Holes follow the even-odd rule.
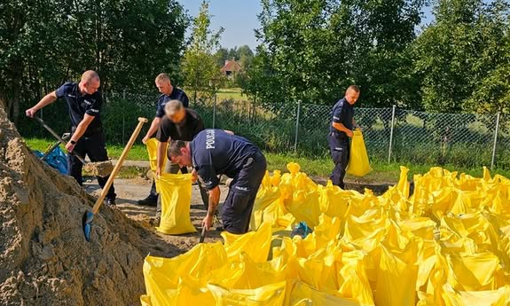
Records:
[[[262,183],[267,164],[262,153],[248,158],[231,182],[229,194],[222,208],[225,231],[242,234],[249,230],[256,193]]]

